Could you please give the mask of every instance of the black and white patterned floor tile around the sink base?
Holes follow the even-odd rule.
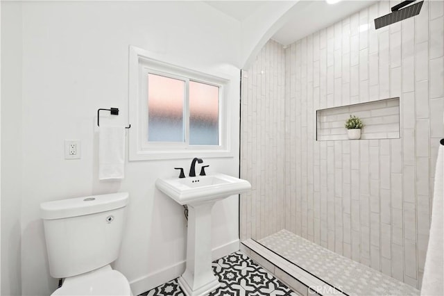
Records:
[[[297,295],[242,252],[235,252],[214,261],[212,268],[221,282],[221,287],[210,293],[210,296]],[[177,279],[139,296],[154,295],[185,296]]]

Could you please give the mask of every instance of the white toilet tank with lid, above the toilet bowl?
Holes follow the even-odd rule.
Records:
[[[73,277],[119,256],[128,192],[40,204],[51,277]]]

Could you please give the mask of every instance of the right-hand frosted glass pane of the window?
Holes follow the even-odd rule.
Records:
[[[189,81],[189,145],[219,145],[219,87]]]

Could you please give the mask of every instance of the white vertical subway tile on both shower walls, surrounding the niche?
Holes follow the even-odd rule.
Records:
[[[266,44],[242,78],[242,240],[287,229],[420,288],[444,138],[443,3],[375,31],[397,4],[380,1]],[[316,141],[316,110],[393,97],[400,139]]]

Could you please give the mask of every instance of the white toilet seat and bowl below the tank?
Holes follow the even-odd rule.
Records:
[[[128,279],[117,270],[105,270],[65,279],[62,287],[51,296],[119,295],[130,296]]]

